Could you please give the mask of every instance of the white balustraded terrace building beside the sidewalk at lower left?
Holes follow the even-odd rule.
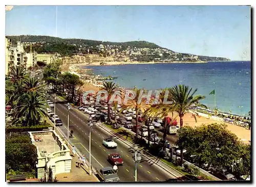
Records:
[[[70,149],[57,135],[55,130],[29,132],[31,143],[37,149],[36,173],[38,179],[48,177],[49,168],[53,178],[59,173],[70,173]]]

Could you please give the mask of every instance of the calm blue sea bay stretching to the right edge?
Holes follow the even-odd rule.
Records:
[[[173,64],[131,64],[113,66],[84,66],[94,74],[118,77],[114,81],[121,87],[156,90],[178,84],[197,88],[197,94],[206,96],[201,102],[222,112],[244,116],[251,111],[251,62],[208,62]]]

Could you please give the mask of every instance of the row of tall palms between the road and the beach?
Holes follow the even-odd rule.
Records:
[[[118,90],[118,87],[113,82],[104,82],[102,90],[105,90],[108,92],[108,103],[111,98],[111,96],[114,94],[115,91]],[[180,128],[183,127],[183,117],[186,113],[189,112],[189,109],[191,106],[201,106],[206,108],[205,105],[200,103],[200,100],[204,99],[205,96],[202,95],[195,95],[197,92],[197,89],[193,90],[192,88],[189,88],[185,85],[178,85],[174,86],[173,88],[165,88],[161,90],[159,101],[160,103],[156,104],[149,104],[146,102],[146,100],[140,98],[140,92],[146,93],[146,90],[144,89],[137,89],[136,87],[133,89],[136,93],[136,97],[132,100],[129,100],[126,104],[123,105],[122,110],[124,109],[135,109],[136,111],[136,128],[135,128],[135,141],[138,139],[138,114],[139,112],[143,113],[143,118],[145,120],[145,123],[149,126],[153,119],[155,117],[163,118],[164,125],[163,125],[163,140],[165,142],[167,137],[167,118],[168,114],[172,113],[172,117],[174,116],[174,113],[177,113],[180,118]],[[173,101],[172,104],[165,104],[163,103],[164,97],[167,95],[168,101]],[[138,102],[141,100],[141,102]],[[153,101],[154,98],[152,98],[151,101]],[[165,98],[166,100],[166,98]],[[150,102],[151,103],[151,102]],[[111,104],[108,104],[108,122],[110,122],[110,106]],[[193,114],[193,117],[195,118],[195,121],[197,122],[197,113]],[[176,117],[177,118],[177,117]],[[172,123],[176,118],[170,119],[170,123]],[[150,145],[150,133],[148,133],[148,145]],[[183,163],[183,150],[181,149],[181,163]]]

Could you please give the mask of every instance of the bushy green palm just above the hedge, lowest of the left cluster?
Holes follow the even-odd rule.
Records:
[[[41,117],[47,117],[47,101],[38,92],[29,92],[19,97],[14,108],[13,123],[22,120],[26,126],[37,125]]]

